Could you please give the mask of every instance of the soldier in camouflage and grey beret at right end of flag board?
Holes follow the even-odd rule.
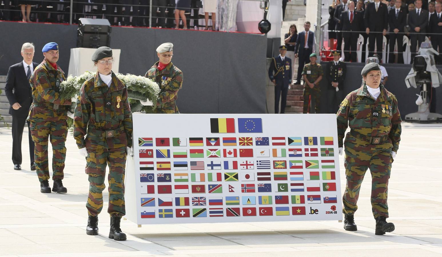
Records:
[[[396,97],[380,83],[377,63],[367,64],[361,72],[364,84],[347,95],[337,113],[338,146],[345,147],[347,186],[343,196],[344,229],[356,231],[354,212],[362,179],[367,169],[372,176],[371,205],[376,219],[376,234],[394,231],[387,223],[387,193],[391,166],[400,142],[401,118]],[[344,143],[344,133],[350,126]]]

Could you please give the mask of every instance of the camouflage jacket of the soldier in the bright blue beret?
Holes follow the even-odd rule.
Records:
[[[46,59],[39,64],[29,79],[34,98],[29,109],[30,121],[66,120],[71,99],[60,98],[60,83],[65,80],[65,73],[57,65],[54,69]]]

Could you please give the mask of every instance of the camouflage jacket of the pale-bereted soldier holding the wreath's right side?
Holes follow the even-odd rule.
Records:
[[[152,79],[160,85],[160,94],[156,102],[154,113],[179,113],[175,101],[178,98],[178,91],[183,85],[183,72],[176,68],[171,62],[164,68],[158,70],[158,61],[146,72],[145,77]],[[154,103],[155,105],[155,103]]]

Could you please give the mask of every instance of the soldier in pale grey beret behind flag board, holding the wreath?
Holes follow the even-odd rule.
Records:
[[[159,99],[153,103],[153,106],[156,106],[153,113],[179,113],[175,101],[183,85],[183,72],[171,63],[173,44],[161,44],[156,49],[156,53],[160,60],[145,75],[160,85]]]

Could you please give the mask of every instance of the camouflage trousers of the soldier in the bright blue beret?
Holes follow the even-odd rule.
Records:
[[[30,132],[35,144],[35,170],[38,180],[49,180],[48,143],[52,144],[52,179],[63,179],[66,159],[66,120],[30,121]]]

